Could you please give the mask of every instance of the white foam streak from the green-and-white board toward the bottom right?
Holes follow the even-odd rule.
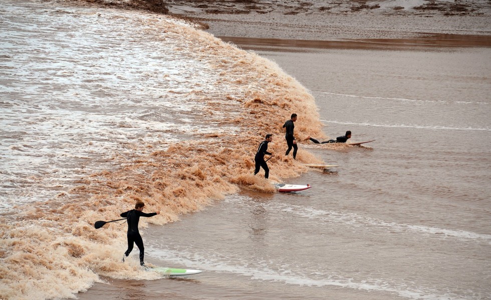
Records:
[[[343,288],[361,289],[368,291],[381,291],[398,294],[399,296],[410,299],[427,299],[427,300],[454,300],[467,299],[451,293],[438,293],[428,287],[409,287],[405,284],[392,283],[387,279],[355,280],[345,278],[329,272],[320,272],[317,266],[305,266],[301,270],[303,273],[296,273],[288,265],[280,266],[281,270],[274,270],[261,262],[261,265],[254,265],[255,262],[243,261],[237,264],[237,259],[215,253],[214,257],[201,255],[196,252],[189,253],[186,251],[176,251],[171,249],[154,249],[148,250],[153,257],[172,261],[172,263],[185,265],[187,267],[198,268],[202,270],[233,273],[243,276],[250,276],[254,280],[280,281],[287,284],[300,286],[336,286]],[[256,263],[257,264],[257,263]],[[310,271],[309,271],[310,270]],[[470,299],[470,298],[469,298]]]

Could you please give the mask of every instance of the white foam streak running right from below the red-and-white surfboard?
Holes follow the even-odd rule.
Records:
[[[272,206],[271,209],[273,210],[290,212],[303,217],[318,219],[322,221],[341,222],[352,226],[366,227],[367,225],[369,225],[370,228],[381,227],[381,228],[386,228],[387,230],[396,230],[401,232],[407,232],[409,230],[414,232],[437,234],[437,235],[441,235],[442,237],[453,236],[453,237],[464,238],[464,239],[484,239],[484,240],[491,241],[491,235],[489,234],[479,234],[479,233],[465,231],[465,230],[453,230],[453,229],[430,227],[430,226],[423,226],[423,225],[389,222],[377,218],[359,215],[356,213],[339,212],[339,211],[332,211],[332,210],[326,211],[322,209],[317,209],[313,207],[304,207],[300,205],[291,205],[291,204],[283,204],[283,203],[275,203],[275,204],[271,203],[269,205]]]

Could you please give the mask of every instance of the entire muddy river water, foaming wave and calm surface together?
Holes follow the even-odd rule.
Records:
[[[145,12],[1,9],[2,298],[491,297],[488,47],[253,52]],[[294,161],[292,112],[299,141],[376,141]],[[253,176],[266,133],[271,181],[313,188]],[[201,274],[121,263],[126,224],[93,223],[136,200],[162,211],[146,262]]]

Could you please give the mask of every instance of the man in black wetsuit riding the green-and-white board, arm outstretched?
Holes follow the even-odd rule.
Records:
[[[140,216],[154,216],[156,214],[160,214],[160,211],[145,213],[143,212],[143,207],[145,203],[136,202],[135,209],[128,210],[126,212],[121,213],[122,217],[126,218],[128,222],[128,249],[124,252],[123,262],[126,257],[130,254],[131,250],[133,250],[133,243],[136,243],[138,249],[140,249],[140,265],[145,266],[143,262],[144,247],[143,247],[143,239],[141,238],[140,232],[138,231],[138,222],[140,221]]]

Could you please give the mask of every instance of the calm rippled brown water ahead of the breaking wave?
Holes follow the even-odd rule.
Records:
[[[376,140],[305,142],[301,150],[339,165],[289,180],[313,188],[244,192],[152,228],[145,239],[155,263],[205,272],[140,290],[177,289],[191,298],[489,298],[489,50],[260,54],[316,96],[327,136],[350,129],[353,142]]]

